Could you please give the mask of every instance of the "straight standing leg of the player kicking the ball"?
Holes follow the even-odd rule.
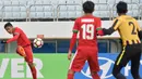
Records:
[[[35,65],[33,63],[33,52],[32,52],[32,48],[31,47],[26,47],[24,48],[25,50],[25,53],[26,53],[26,57],[25,57],[25,61],[27,62],[28,66],[29,66],[29,69],[32,71],[32,76],[33,76],[33,79],[37,79],[37,73],[36,73],[36,68],[35,68]]]

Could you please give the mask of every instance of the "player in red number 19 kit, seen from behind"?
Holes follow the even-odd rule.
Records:
[[[70,42],[70,49],[68,53],[68,60],[71,60],[72,49],[79,34],[79,45],[76,52],[71,61],[68,79],[74,78],[74,73],[81,71],[83,65],[87,61],[93,79],[100,79],[97,71],[99,71],[98,65],[98,48],[97,48],[97,35],[103,35],[100,29],[100,18],[93,16],[95,4],[92,1],[83,3],[84,15],[75,19],[73,27],[73,35]]]

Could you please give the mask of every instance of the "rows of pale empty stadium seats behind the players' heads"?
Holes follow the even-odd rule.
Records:
[[[86,0],[0,0],[1,19],[60,19],[76,18],[83,14],[82,3]],[[95,16],[109,19],[116,17],[116,3],[126,1],[129,15],[142,16],[142,0],[91,0]]]

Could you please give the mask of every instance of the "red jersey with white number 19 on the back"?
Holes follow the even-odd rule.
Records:
[[[85,15],[76,18],[73,31],[79,31],[79,47],[96,47],[97,31],[100,27],[100,18],[93,15]]]

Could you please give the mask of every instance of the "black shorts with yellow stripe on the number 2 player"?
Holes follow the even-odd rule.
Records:
[[[128,44],[122,48],[121,53],[118,55],[116,60],[116,65],[126,66],[129,61],[133,57],[141,56],[141,44]]]

